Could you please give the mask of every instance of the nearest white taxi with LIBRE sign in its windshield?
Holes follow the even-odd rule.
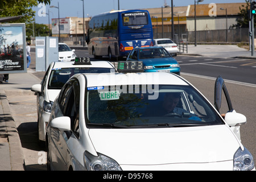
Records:
[[[175,113],[160,114],[165,95],[174,93]],[[174,73],[77,74],[53,104],[48,169],[253,170],[237,130],[245,122],[236,111],[224,120]]]

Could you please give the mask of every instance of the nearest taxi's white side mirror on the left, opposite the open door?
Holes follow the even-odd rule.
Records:
[[[50,125],[63,131],[69,131],[71,130],[71,119],[67,116],[54,118]]]

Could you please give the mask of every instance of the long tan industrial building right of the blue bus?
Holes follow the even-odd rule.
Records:
[[[196,5],[196,31],[201,42],[247,42],[248,28],[234,29],[240,9],[246,3],[210,3]],[[195,5],[174,8],[174,40],[194,42]],[[172,38],[171,7],[146,9],[149,11],[154,38]],[[228,35],[227,35],[227,33]],[[177,39],[178,38],[178,39]]]

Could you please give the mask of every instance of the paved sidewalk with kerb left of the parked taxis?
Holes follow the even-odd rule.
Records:
[[[0,171],[24,171],[24,156],[16,123],[9,107],[11,96],[34,96],[30,91],[40,79],[28,69],[27,73],[9,75],[9,83],[0,84]],[[34,96],[35,97],[35,96]],[[24,110],[20,109],[20,112]]]

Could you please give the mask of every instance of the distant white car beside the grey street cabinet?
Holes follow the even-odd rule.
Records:
[[[75,49],[71,49],[65,43],[59,43],[59,61],[75,61]]]

